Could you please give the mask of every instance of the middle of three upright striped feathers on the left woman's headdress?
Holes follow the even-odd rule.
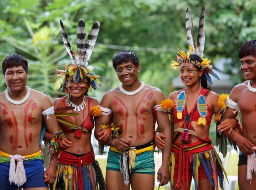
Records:
[[[78,27],[76,32],[77,55],[79,60],[82,59],[83,52],[85,52],[85,35],[85,21],[81,18],[78,21]]]

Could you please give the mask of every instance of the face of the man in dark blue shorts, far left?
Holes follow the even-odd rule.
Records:
[[[29,74],[26,73],[22,65],[19,67],[7,68],[4,74],[6,86],[13,92],[22,92],[26,89],[28,77]]]

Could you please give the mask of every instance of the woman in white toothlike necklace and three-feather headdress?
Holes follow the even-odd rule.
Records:
[[[93,67],[88,67],[88,60],[99,32],[99,22],[96,21],[85,41],[85,21],[80,19],[77,29],[78,54],[72,50],[65,28],[60,20],[63,42],[72,58],[72,65],[65,65],[65,70],[56,69],[59,76],[64,76],[62,85],[68,95],[57,98],[53,106],[61,108],[72,106],[69,110],[72,116],[59,118],[59,126],[66,137],[72,142],[71,146],[58,155],[56,180],[53,190],[105,190],[105,180],[99,163],[95,160],[91,144],[94,119],[91,108],[99,104],[96,98],[88,96],[88,90],[96,90],[100,77],[92,74]],[[63,112],[65,113],[65,112]],[[61,115],[62,113],[59,113]]]

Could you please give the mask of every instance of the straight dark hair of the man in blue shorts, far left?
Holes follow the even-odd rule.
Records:
[[[10,54],[2,62],[3,75],[5,74],[7,68],[19,67],[22,65],[26,73],[29,72],[29,67],[27,65],[27,60],[18,54]]]

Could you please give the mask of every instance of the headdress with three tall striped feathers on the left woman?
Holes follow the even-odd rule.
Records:
[[[67,64],[65,64],[65,70],[55,69],[55,72],[59,73],[58,76],[65,76],[62,85],[60,86],[60,89],[63,88],[67,92],[67,81],[73,80],[75,82],[78,82],[79,79],[83,79],[85,76],[87,76],[91,81],[90,90],[92,90],[92,88],[96,90],[96,84],[101,85],[101,82],[99,81],[101,77],[99,75],[94,75],[91,73],[93,67],[88,67],[88,60],[91,57],[96,38],[99,33],[99,22],[96,21],[93,24],[87,40],[85,41],[85,21],[82,18],[79,19],[76,33],[77,55],[75,51],[72,50],[72,47],[69,43],[68,35],[66,34],[65,27],[61,20],[60,26],[63,43],[72,61],[72,65],[68,66]]]

